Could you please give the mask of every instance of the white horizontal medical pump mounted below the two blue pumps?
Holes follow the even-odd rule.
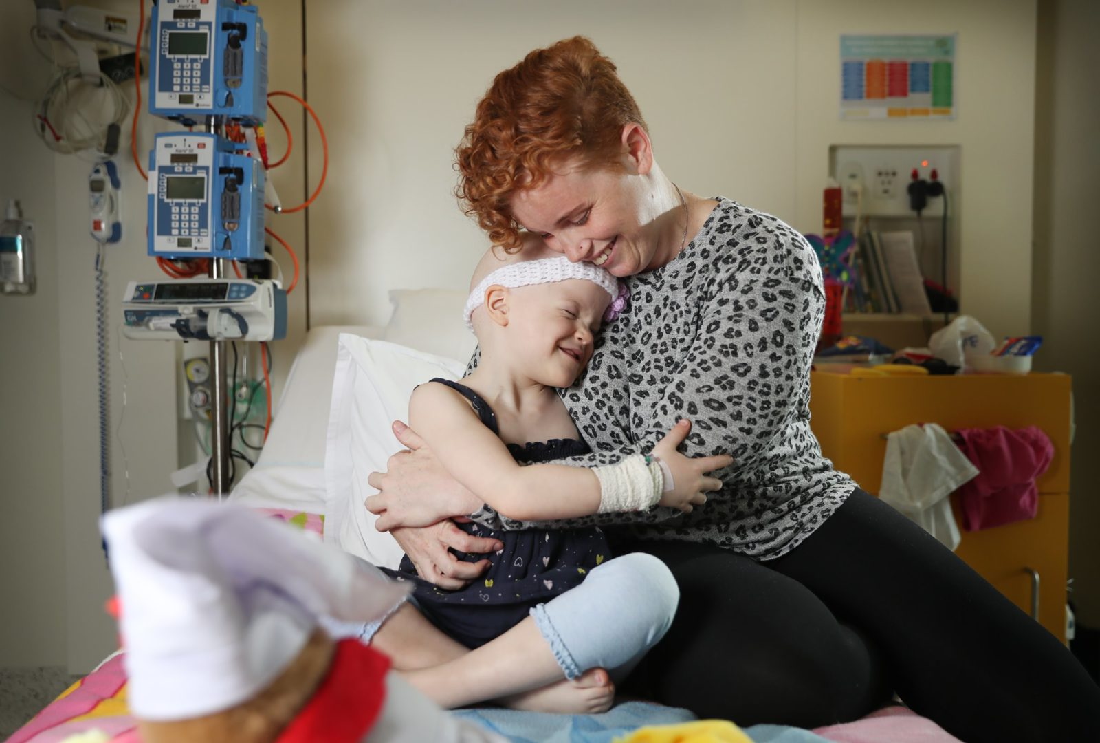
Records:
[[[271,280],[130,282],[122,331],[134,340],[282,340],[286,292]]]

